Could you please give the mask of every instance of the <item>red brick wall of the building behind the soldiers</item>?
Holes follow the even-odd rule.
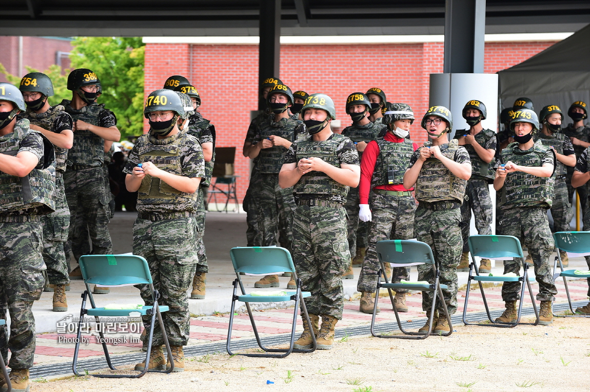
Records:
[[[489,42],[484,70],[496,73],[512,67],[555,42]],[[420,117],[428,108],[431,73],[441,73],[443,44],[382,45],[283,45],[281,74],[291,90],[326,93],[336,103],[342,126],[350,124],[345,113],[346,97],[355,91],[380,87],[388,101],[408,103]],[[192,66],[191,66],[192,65]],[[170,75],[187,77],[202,97],[201,113],[215,124],[217,146],[236,148],[235,169],[238,197],[248,186],[250,160],[241,154],[250,123],[250,110],[257,109],[257,45],[147,44],[146,95],[162,88]],[[419,123],[411,129],[414,140],[426,139]]]

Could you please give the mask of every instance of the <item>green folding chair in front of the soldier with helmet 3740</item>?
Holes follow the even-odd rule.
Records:
[[[86,255],[81,256],[80,271],[82,272],[82,278],[84,279],[84,285],[86,285],[86,291],[81,295],[82,306],[80,308],[80,320],[78,321],[78,335],[76,339],[76,348],[74,350],[74,361],[72,369],[74,374],[80,375],[77,369],[78,362],[78,350],[80,349],[81,335],[82,335],[82,322],[84,321],[84,315],[94,316],[96,323],[100,323],[100,317],[128,317],[130,314],[139,315],[151,315],[152,321],[150,322],[149,337],[148,337],[148,350],[146,352],[146,366],[139,374],[92,374],[94,377],[104,378],[139,378],[142,377],[148,371],[149,356],[152,351],[152,340],[153,340],[153,328],[155,325],[155,319],[158,317],[160,323],[160,329],[164,337],[164,344],[166,351],[168,352],[168,358],[172,358],[172,351],[168,342],[168,336],[164,329],[164,322],[162,321],[162,312],[167,312],[169,309],[167,306],[158,305],[160,299],[160,293],[158,290],[153,288],[152,274],[150,274],[148,262],[141,256],[136,255]],[[149,285],[152,291],[153,306],[143,306],[142,309],[105,309],[97,308],[94,304],[94,297],[90,285],[104,285],[104,286],[127,286],[127,285]],[[86,298],[90,299],[90,309],[86,309]],[[110,360],[109,350],[104,340],[102,329],[99,331],[101,342],[104,350],[104,357],[106,358],[107,364],[111,370],[117,370]],[[171,361],[171,368],[166,371],[149,370],[155,373],[171,373],[174,370],[174,361]]]

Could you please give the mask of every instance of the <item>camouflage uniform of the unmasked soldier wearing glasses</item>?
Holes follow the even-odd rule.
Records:
[[[425,147],[431,145],[428,141],[424,143]],[[471,163],[467,150],[459,146],[456,139],[442,144],[440,150],[445,157],[457,163]],[[414,166],[419,156],[418,149],[414,152],[409,167]],[[463,251],[459,227],[460,206],[466,186],[466,180],[455,176],[435,157],[425,160],[416,181],[415,196],[419,204],[414,216],[415,235],[418,241],[425,242],[432,248],[432,255],[440,271],[439,282],[448,286],[442,293],[450,315],[457,311],[457,265]],[[434,283],[431,265],[422,264],[417,268],[419,281]],[[436,294],[432,291],[422,292],[422,310],[427,314],[431,310],[432,295]],[[437,309],[439,312],[444,311],[440,301],[437,301]]]

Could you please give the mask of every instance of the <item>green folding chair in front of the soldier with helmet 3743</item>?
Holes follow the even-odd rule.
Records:
[[[522,313],[522,302],[525,299],[525,285],[529,289],[530,301],[533,303],[533,309],[535,309],[536,321],[532,325],[539,324],[539,311],[537,311],[537,305],[535,304],[535,297],[533,291],[530,288],[530,281],[533,278],[529,276],[529,265],[524,262],[525,256],[522,254],[522,247],[518,238],[509,235],[472,235],[468,238],[467,243],[469,245],[469,251],[471,252],[471,263],[469,265],[469,277],[467,278],[467,292],[465,294],[465,305],[463,307],[463,324],[465,325],[480,325],[481,327],[501,327],[501,328],[513,328],[520,322],[520,314]],[[483,259],[504,259],[510,260],[515,257],[519,257],[522,261],[523,272],[522,276],[489,276],[480,275],[476,265],[476,256]],[[475,272],[475,275],[473,273]],[[483,298],[483,304],[486,307],[487,318],[491,324],[477,324],[467,322],[467,302],[469,302],[469,292],[471,288],[471,281],[476,281],[480,287],[481,298]],[[483,285],[481,282],[521,282],[520,285],[520,301],[518,307],[518,316],[516,322],[503,323],[496,322],[490,315],[490,308],[487,305],[486,294],[483,291]],[[529,323],[523,323],[529,324]]]

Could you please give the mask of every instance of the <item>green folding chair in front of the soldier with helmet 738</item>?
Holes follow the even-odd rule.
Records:
[[[312,334],[313,347],[309,349],[297,349],[293,348],[295,342],[295,327],[297,322],[297,312],[299,311],[299,305],[303,309],[303,315],[307,321],[307,325],[312,325],[309,320],[309,314],[303,298],[310,297],[309,291],[301,291],[301,279],[297,278],[295,272],[295,266],[293,265],[293,259],[291,259],[291,253],[285,248],[277,246],[249,246],[245,248],[232,248],[230,251],[231,262],[234,265],[234,271],[236,279],[234,280],[234,294],[231,297],[231,312],[230,312],[230,327],[227,332],[227,353],[230,355],[245,355],[246,357],[265,357],[265,358],[284,358],[291,353],[313,353],[316,351],[316,337]],[[291,272],[293,279],[296,281],[296,291],[287,291],[287,295],[274,296],[269,295],[267,297],[258,297],[251,294],[246,294],[244,284],[242,282],[240,272],[245,275],[278,275],[284,272]],[[238,295],[238,285],[240,286],[241,295]],[[234,354],[231,351],[231,330],[234,324],[234,311],[235,302],[244,302],[245,307],[248,311],[248,317],[250,317],[250,323],[254,331],[254,336],[260,347],[265,354]],[[283,302],[283,301],[295,301],[295,309],[293,311],[293,324],[291,325],[291,337],[288,349],[283,348],[267,348],[261,340],[256,323],[254,322],[254,315],[250,308],[251,302]],[[282,353],[282,354],[267,354],[267,353]]]

